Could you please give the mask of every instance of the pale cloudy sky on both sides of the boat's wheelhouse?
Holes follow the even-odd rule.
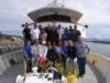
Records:
[[[31,22],[28,13],[53,0],[0,0],[0,31],[21,31],[21,24]],[[63,0],[58,0],[62,3]],[[110,38],[110,0],[64,0],[65,7],[80,11],[79,23],[88,24],[89,37]]]

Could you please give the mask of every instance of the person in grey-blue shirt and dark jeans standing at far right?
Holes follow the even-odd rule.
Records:
[[[86,73],[86,59],[87,53],[89,53],[89,48],[86,43],[84,43],[84,39],[80,38],[77,43],[77,60],[78,60],[78,76],[84,76]]]

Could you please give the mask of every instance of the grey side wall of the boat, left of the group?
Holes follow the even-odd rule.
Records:
[[[7,71],[9,68],[11,68],[13,65],[12,63],[16,64],[16,63],[21,62],[22,59],[23,59],[23,50],[22,49],[0,55],[0,75],[4,71]]]

